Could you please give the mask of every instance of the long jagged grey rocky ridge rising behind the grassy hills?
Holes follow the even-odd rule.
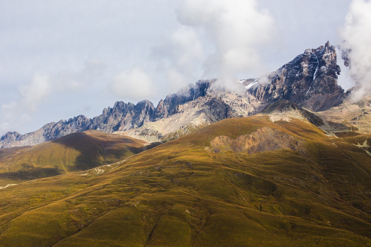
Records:
[[[344,90],[336,82],[339,73],[335,47],[327,42],[325,46],[305,50],[268,75],[240,80],[243,88],[240,92],[216,89],[213,87],[216,79],[199,80],[167,95],[156,108],[147,100],[136,105],[120,101],[93,119],[80,115],[48,123],[24,135],[8,132],[1,137],[0,147],[36,145],[88,129],[124,131],[147,141],[168,141],[224,118],[259,113],[280,99],[311,111],[324,111],[339,105],[344,98]]]

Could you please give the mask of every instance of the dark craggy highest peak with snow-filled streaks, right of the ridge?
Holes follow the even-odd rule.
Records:
[[[262,103],[287,99],[311,111],[324,111],[344,99],[344,90],[336,81],[339,74],[335,46],[327,42],[317,49],[306,49],[269,75],[246,80],[244,85]]]

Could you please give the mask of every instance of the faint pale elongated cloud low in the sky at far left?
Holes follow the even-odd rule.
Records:
[[[48,103],[57,93],[70,94],[89,86],[93,80],[105,73],[106,67],[100,58],[95,57],[86,60],[84,67],[78,72],[35,72],[29,83],[18,86],[19,99],[1,104],[0,132],[19,128],[29,122],[31,116],[39,111],[40,105]]]

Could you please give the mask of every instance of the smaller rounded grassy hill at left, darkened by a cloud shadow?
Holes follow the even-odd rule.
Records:
[[[0,186],[111,164],[141,152],[145,143],[96,130],[66,135],[0,159]]]

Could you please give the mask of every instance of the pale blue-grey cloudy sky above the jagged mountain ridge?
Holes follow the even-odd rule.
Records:
[[[355,47],[370,43],[352,38],[369,28],[369,6],[367,0],[0,0],[0,135],[92,118],[116,101],[157,106],[199,79],[256,78],[327,40],[349,40],[344,47],[356,51],[356,61],[362,50]],[[362,82],[371,70],[360,65],[350,74],[363,73]]]

